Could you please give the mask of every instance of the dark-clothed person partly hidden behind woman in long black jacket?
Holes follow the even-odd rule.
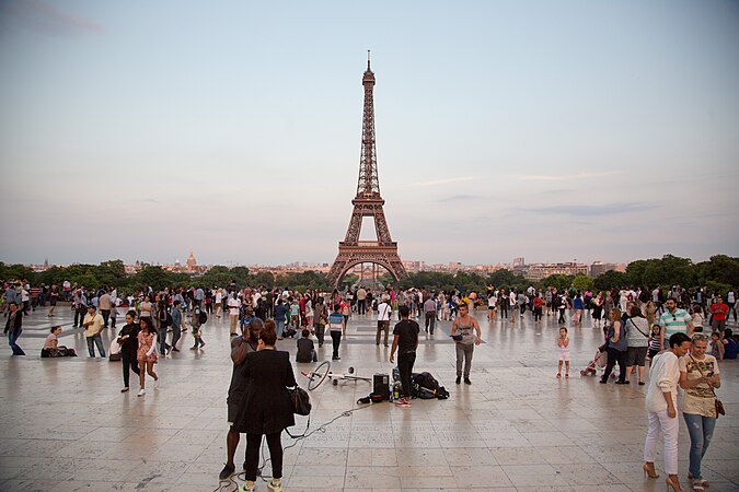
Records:
[[[243,403],[244,395],[249,386],[249,378],[244,374],[244,360],[246,354],[256,352],[259,344],[259,333],[264,329],[264,323],[259,318],[253,318],[246,326],[249,337],[236,336],[231,338],[231,362],[233,370],[231,371],[231,384],[229,385],[228,396],[226,398],[229,432],[226,435],[226,466],[219,475],[220,480],[227,480],[233,475],[236,467],[233,462],[233,457],[241,441],[241,434],[233,426],[233,423],[239,415],[239,409]],[[246,460],[244,459],[244,470],[246,469]]]

